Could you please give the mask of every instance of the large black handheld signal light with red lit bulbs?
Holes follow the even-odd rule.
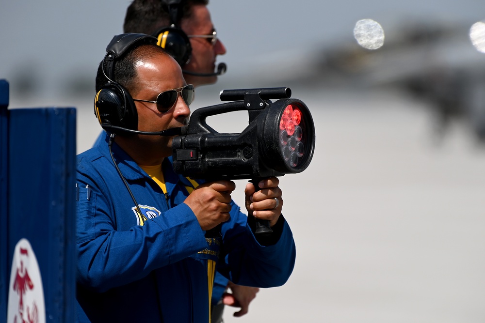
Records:
[[[207,181],[250,179],[253,184],[302,172],[315,149],[315,126],[305,103],[290,97],[290,88],[221,91],[221,101],[233,102],[196,109],[186,134],[173,139],[175,172]],[[240,110],[249,116],[241,133],[218,133],[206,123],[209,116]],[[255,233],[268,232],[269,221],[257,219]]]

